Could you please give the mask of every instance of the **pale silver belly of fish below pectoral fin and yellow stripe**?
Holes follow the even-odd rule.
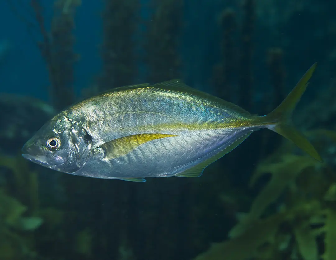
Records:
[[[173,131],[169,134],[176,137],[144,143],[109,161],[92,160],[76,174],[106,179],[170,177],[211,158],[252,131],[246,127]]]

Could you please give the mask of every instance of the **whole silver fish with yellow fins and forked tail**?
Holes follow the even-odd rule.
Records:
[[[115,88],[46,122],[23,146],[23,157],[92,178],[144,182],[147,177],[199,177],[251,133],[268,128],[322,161],[291,120],[316,65],[264,116],[180,80]]]

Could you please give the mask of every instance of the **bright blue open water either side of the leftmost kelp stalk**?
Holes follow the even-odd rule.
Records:
[[[47,29],[52,17],[52,2],[42,1]],[[39,29],[35,27],[31,34],[27,23],[18,16],[28,17],[28,21],[36,24],[34,14],[29,4],[24,8],[17,4],[15,6],[17,12],[13,13],[13,8],[7,1],[0,1],[0,41],[7,40],[10,43],[10,50],[0,69],[1,92],[33,96],[47,101],[50,82],[45,62],[36,44],[41,40]],[[101,67],[101,12],[100,1],[83,1],[76,11],[75,49],[80,54],[75,69],[77,94],[81,88],[88,86],[88,82],[93,80]]]

